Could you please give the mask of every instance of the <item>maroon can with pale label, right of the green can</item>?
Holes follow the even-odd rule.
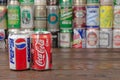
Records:
[[[73,7],[73,27],[85,28],[86,26],[86,7],[74,6]]]

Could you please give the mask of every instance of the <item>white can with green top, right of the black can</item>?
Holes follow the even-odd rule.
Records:
[[[62,29],[60,30],[59,36],[59,47],[60,48],[71,48],[72,45],[72,30]]]

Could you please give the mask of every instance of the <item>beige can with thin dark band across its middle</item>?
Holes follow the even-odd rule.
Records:
[[[34,7],[34,26],[37,29],[47,28],[47,11],[46,6]]]

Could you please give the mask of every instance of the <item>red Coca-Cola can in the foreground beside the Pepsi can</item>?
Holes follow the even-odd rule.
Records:
[[[32,69],[52,69],[52,35],[50,32],[35,32],[31,36]]]

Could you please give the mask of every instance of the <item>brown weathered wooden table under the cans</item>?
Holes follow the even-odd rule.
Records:
[[[0,80],[120,80],[119,49],[53,49],[50,71],[11,71],[0,49]]]

